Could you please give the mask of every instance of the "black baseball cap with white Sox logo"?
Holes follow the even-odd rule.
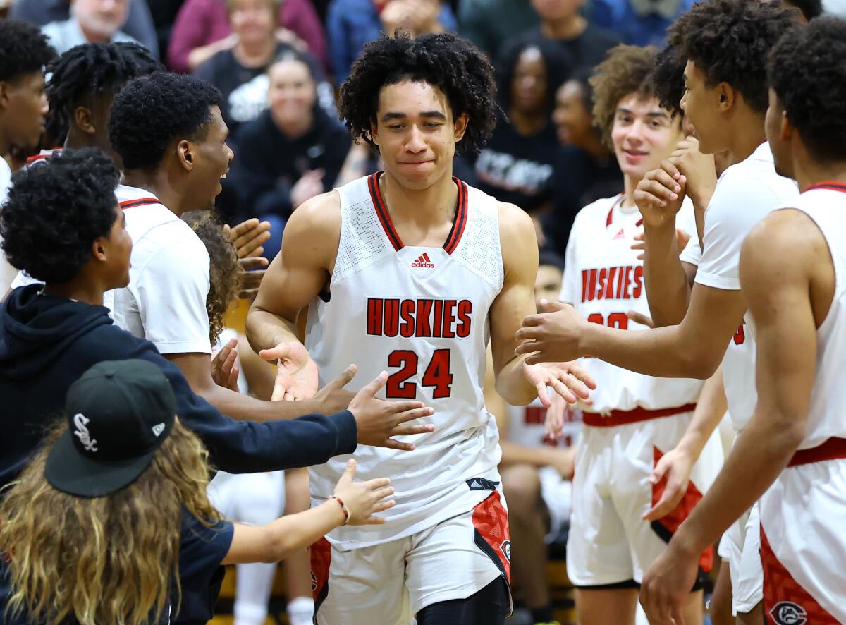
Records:
[[[68,431],[47,456],[47,482],[69,495],[102,497],[150,466],[173,429],[176,398],[151,362],[98,362],[70,385],[65,412]]]

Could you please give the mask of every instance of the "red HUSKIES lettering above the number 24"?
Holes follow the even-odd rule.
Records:
[[[367,298],[367,334],[439,339],[470,336],[470,300],[387,300]]]

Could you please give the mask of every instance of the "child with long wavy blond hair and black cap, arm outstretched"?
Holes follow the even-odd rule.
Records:
[[[0,504],[7,616],[167,623],[222,564],[282,560],[393,505],[389,480],[353,482],[349,461],[321,506],[261,527],[224,521],[206,496],[208,452],[176,411],[151,362],[99,362],[71,384],[65,418]]]

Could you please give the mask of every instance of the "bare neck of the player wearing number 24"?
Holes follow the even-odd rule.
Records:
[[[386,171],[379,178],[379,189],[394,224],[413,223],[420,228],[435,228],[452,221],[459,197],[452,168],[426,189],[404,187]]]

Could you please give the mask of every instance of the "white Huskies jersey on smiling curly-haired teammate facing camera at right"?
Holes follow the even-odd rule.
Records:
[[[645,329],[626,312],[649,315],[640,252],[631,249],[634,235],[643,231],[637,208],[623,209],[623,196],[597,200],[576,215],[567,244],[561,301],[569,302],[588,321],[618,329]],[[693,204],[684,200],[678,227],[696,236]],[[596,380],[591,412],[659,410],[693,403],[700,380],[653,378],[617,367],[598,358],[581,364]]]

